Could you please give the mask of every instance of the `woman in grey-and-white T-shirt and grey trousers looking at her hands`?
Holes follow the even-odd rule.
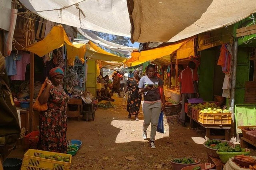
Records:
[[[156,77],[155,65],[149,64],[146,69],[146,76],[141,77],[139,82],[139,93],[144,94],[142,110],[144,114],[143,138],[147,139],[147,128],[151,123],[150,146],[155,146],[156,128],[161,109],[165,109],[164,93],[160,94],[160,88],[163,88],[163,81]]]

